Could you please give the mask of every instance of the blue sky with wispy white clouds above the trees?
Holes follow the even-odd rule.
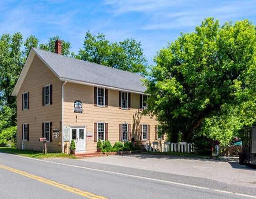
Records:
[[[75,54],[87,31],[111,42],[132,37],[152,64],[157,51],[207,17],[256,24],[256,0],[0,0],[0,35],[21,32],[40,43],[59,35]]]

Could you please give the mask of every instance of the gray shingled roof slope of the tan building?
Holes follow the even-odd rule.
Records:
[[[37,48],[32,49],[60,78],[115,87],[120,90],[145,92],[147,89],[146,86],[142,85],[140,79],[144,78],[139,74],[50,53]]]

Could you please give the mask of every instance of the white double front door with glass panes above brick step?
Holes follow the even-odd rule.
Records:
[[[85,127],[71,127],[71,136],[76,143],[76,151],[85,151]]]

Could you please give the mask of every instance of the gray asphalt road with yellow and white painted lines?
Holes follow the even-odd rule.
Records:
[[[37,160],[0,153],[1,199],[104,197],[248,199],[256,198],[256,189],[165,173],[160,168],[156,172],[82,160]]]

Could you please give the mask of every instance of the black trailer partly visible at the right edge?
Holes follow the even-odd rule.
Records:
[[[256,127],[248,127],[242,130],[242,153],[239,155],[239,163],[256,164]]]

